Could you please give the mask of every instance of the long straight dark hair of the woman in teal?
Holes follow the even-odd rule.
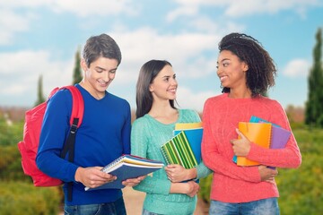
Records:
[[[138,81],[136,82],[135,102],[136,110],[135,116],[139,118],[149,112],[153,106],[153,95],[149,90],[150,84],[158,73],[162,71],[165,65],[170,65],[166,60],[150,60],[146,62],[140,69]],[[170,106],[176,108],[174,100],[170,100]]]

